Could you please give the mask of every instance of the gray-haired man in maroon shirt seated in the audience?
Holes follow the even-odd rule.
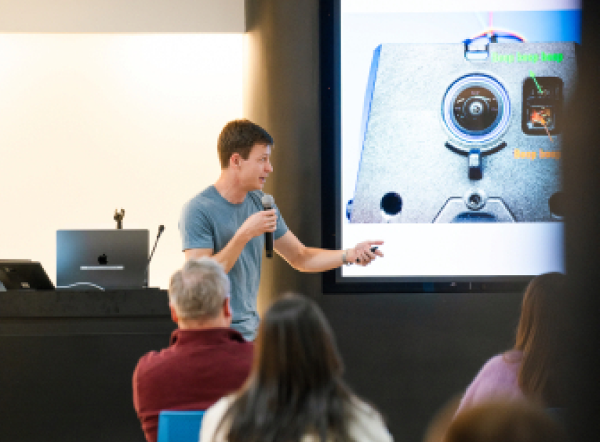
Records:
[[[214,259],[190,259],[172,275],[169,307],[177,329],[133,373],[133,404],[148,442],[162,410],[205,410],[237,390],[252,364],[252,343],[230,328],[229,279]]]

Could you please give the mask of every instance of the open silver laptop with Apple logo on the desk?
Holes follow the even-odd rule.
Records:
[[[57,230],[57,289],[148,286],[147,229]]]

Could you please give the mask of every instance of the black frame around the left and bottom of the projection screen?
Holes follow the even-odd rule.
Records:
[[[319,4],[321,93],[322,246],[341,240],[341,10],[340,0]],[[365,238],[365,239],[377,239]],[[382,251],[386,253],[386,245]],[[386,258],[383,258],[386,259]],[[439,277],[342,277],[341,268],[323,274],[324,293],[522,292],[535,275]]]

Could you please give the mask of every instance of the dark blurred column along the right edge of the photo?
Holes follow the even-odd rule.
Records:
[[[565,247],[570,290],[565,309],[572,327],[564,358],[573,441],[597,441],[600,384],[600,23],[599,4],[583,2],[579,87],[567,112],[563,165]]]

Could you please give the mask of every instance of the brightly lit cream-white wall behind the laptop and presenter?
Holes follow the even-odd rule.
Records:
[[[56,282],[56,230],[165,225],[150,286],[183,262],[182,204],[242,116],[242,34],[0,34],[0,259]],[[152,244],[150,245],[152,247]]]

